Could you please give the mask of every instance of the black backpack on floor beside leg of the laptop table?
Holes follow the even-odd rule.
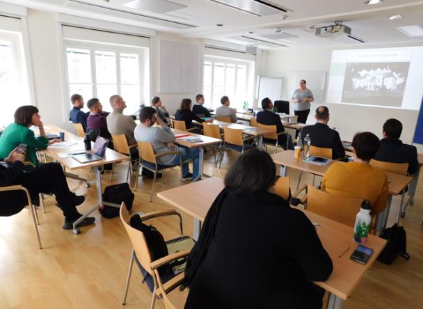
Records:
[[[134,202],[134,193],[132,193],[131,189],[129,189],[129,184],[127,184],[127,182],[122,184],[113,184],[104,189],[103,200],[114,204],[120,204],[123,202],[129,212],[132,208],[132,202]],[[104,218],[108,219],[119,216],[118,207],[102,205],[99,207],[99,212],[102,216],[104,216]]]

